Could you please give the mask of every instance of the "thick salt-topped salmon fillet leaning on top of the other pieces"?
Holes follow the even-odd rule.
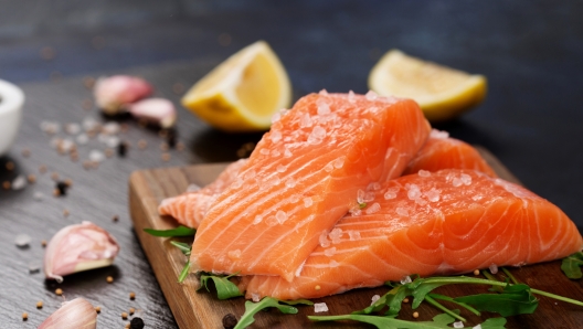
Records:
[[[357,202],[357,191],[400,176],[430,130],[411,99],[303,97],[274,121],[208,211],[191,270],[292,280],[319,235]]]

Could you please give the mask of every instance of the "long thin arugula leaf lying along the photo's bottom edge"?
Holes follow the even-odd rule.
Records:
[[[454,322],[449,315],[442,314],[433,318],[432,321],[406,321],[391,317],[364,316],[364,315],[343,315],[343,316],[308,316],[312,321],[336,321],[336,320],[354,320],[377,326],[379,329],[452,329],[447,325]]]

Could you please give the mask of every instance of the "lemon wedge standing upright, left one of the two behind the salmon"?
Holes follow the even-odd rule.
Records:
[[[265,41],[257,41],[195,83],[182,105],[218,129],[243,132],[268,129],[272,116],[290,100],[284,65]]]

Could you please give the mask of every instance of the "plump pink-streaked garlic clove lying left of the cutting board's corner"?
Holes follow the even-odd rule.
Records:
[[[112,265],[118,252],[116,240],[92,222],[68,225],[46,245],[44,275],[62,283],[64,275]]]

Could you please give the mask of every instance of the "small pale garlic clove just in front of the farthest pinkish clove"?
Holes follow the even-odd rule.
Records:
[[[128,105],[128,110],[136,118],[146,119],[162,128],[172,127],[177,119],[174,105],[165,98],[144,99]]]

